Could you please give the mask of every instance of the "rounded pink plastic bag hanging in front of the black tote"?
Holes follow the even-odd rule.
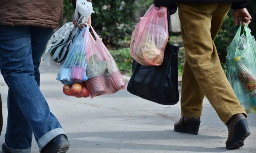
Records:
[[[141,65],[161,65],[168,37],[167,8],[151,5],[132,33],[131,56]]]

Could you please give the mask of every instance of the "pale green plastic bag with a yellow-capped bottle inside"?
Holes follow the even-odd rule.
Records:
[[[240,25],[228,46],[226,67],[228,80],[240,104],[247,113],[256,113],[256,41],[247,25]]]

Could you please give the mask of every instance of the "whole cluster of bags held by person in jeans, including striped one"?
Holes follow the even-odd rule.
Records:
[[[93,13],[91,2],[77,0],[75,20],[77,25],[86,23]],[[95,97],[116,93],[126,84],[115,60],[94,31],[87,27],[79,30],[73,23],[66,23],[48,41],[44,54],[47,65],[62,63],[57,80],[68,96]]]

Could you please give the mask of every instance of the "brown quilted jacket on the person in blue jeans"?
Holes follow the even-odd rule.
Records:
[[[0,24],[55,29],[62,20],[63,0],[0,0]]]

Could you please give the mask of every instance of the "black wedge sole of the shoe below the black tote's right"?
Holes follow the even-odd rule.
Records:
[[[201,121],[189,121],[186,123],[186,125],[182,126],[181,128],[175,128],[174,126],[174,131],[198,135],[200,122]]]

